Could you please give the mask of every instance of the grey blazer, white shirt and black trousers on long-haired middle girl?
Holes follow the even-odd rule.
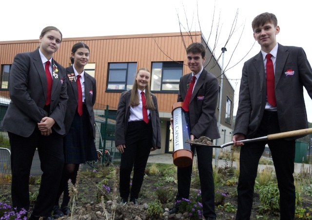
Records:
[[[139,91],[139,90],[138,90]],[[139,91],[140,92],[140,91]],[[117,108],[115,145],[125,144],[124,153],[121,154],[120,162],[120,185],[121,198],[128,200],[137,199],[143,182],[144,170],[150,149],[160,148],[160,121],[157,99],[151,94],[155,110],[149,109],[149,122],[143,118],[132,117],[130,107],[131,90],[121,93]],[[142,100],[137,106],[142,112]],[[134,176],[130,192],[130,174],[134,167]]]

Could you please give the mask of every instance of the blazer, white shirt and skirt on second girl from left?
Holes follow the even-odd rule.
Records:
[[[80,74],[82,88],[83,113],[79,116],[78,107],[78,73],[74,67],[65,69],[67,76],[68,103],[65,114],[64,154],[65,163],[85,163],[89,160],[97,160],[95,146],[95,119],[93,105],[96,102],[97,87],[96,79],[83,72]],[[75,77],[73,77],[75,76]]]

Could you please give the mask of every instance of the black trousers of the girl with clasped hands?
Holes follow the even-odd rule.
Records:
[[[33,215],[51,215],[57,197],[64,165],[63,139],[54,130],[49,136],[42,136],[38,127],[33,134],[24,138],[8,133],[11,144],[12,203],[18,210],[29,209],[29,175],[36,147],[43,171]]]

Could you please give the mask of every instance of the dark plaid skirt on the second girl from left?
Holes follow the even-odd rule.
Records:
[[[66,120],[66,119],[65,119]],[[65,163],[85,163],[89,160],[98,160],[95,140],[91,133],[89,113],[83,105],[81,117],[76,111],[72,126],[64,137]]]

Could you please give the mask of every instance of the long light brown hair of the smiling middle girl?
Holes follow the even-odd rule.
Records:
[[[145,71],[151,73],[147,68],[142,67],[142,68],[137,70],[137,74],[141,70],[145,70]],[[137,76],[137,74],[136,74],[136,76]],[[147,107],[147,109],[155,110],[155,106],[154,106],[154,102],[153,102],[153,98],[152,98],[152,93],[150,90],[150,82],[151,82],[151,80],[149,80],[149,83],[145,87],[146,107]],[[133,86],[132,86],[132,90],[131,90],[130,105],[131,106],[137,106],[138,104],[139,104],[139,99],[138,99],[138,92],[137,92],[137,80],[135,79]]]

